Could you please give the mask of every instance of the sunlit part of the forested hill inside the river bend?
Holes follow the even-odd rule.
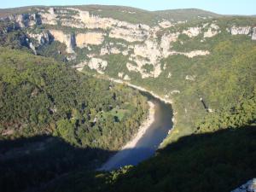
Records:
[[[118,149],[145,117],[146,100],[136,90],[16,50],[1,48],[0,58],[2,138],[54,134],[80,147]],[[125,130],[125,137],[109,142]]]

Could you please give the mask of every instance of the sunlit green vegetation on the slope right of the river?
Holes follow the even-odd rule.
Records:
[[[198,123],[205,118],[209,119],[210,116],[224,121],[225,112],[232,111],[236,106],[255,97],[256,44],[251,37],[231,36],[226,31],[227,26],[253,26],[255,23],[255,19],[220,18],[216,24],[220,26],[221,33],[215,37],[206,38],[204,42],[201,42],[202,34],[195,38],[179,37],[173,49],[183,52],[207,49],[210,55],[194,58],[171,55],[161,61],[162,68],[166,66],[166,69],[158,78],[141,79],[138,73],[125,71],[131,77],[131,83],[153,90],[161,96],[171,97],[177,123],[166,143],[195,132]],[[186,24],[186,27],[188,26],[195,25]],[[177,26],[177,31],[180,30],[179,27],[185,26]],[[111,72],[108,72],[107,68],[106,73],[113,76],[113,73],[118,74],[119,68],[121,67],[113,68]],[[170,73],[172,77],[168,78]],[[195,80],[186,79],[187,75],[194,76]],[[172,90],[179,90],[180,94],[170,94]],[[208,109],[212,109],[212,114],[204,108],[200,98],[206,102]],[[250,112],[255,108],[255,103],[250,105],[250,110],[245,111],[248,123],[243,121],[243,125],[255,120],[255,116]],[[238,115],[236,117],[240,118]],[[226,126],[234,126],[231,121],[229,124]]]

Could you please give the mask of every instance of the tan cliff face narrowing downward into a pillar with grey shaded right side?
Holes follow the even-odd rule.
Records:
[[[73,34],[65,34],[60,30],[50,30],[50,34],[55,38],[56,41],[61,42],[62,44],[66,44],[67,46],[67,53],[74,53],[74,46],[75,46],[75,38]]]

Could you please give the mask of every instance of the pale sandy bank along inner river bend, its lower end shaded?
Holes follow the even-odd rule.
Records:
[[[125,156],[129,152],[129,150],[127,149],[136,148],[137,142],[143,137],[143,135],[148,130],[150,125],[152,125],[154,122],[154,113],[155,113],[154,102],[148,101],[148,106],[149,106],[148,117],[140,126],[137,132],[137,135],[133,137],[130,142],[126,143],[125,146],[121,148],[121,150],[119,150],[117,154],[114,154],[112,157],[110,157],[110,159],[100,169],[98,169],[98,171],[102,171],[102,170],[108,171],[113,169],[113,167],[116,165],[117,162],[119,162],[119,160],[122,160],[123,158],[125,158]]]

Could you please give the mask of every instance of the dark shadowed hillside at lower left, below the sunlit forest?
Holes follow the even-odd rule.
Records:
[[[59,137],[38,136],[0,141],[0,189],[15,192],[31,189],[55,177],[96,168],[113,154],[98,148],[75,147]]]

